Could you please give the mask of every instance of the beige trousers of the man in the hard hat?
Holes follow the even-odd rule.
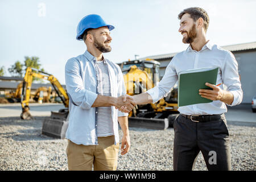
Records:
[[[119,143],[114,144],[114,135],[98,137],[98,145],[85,146],[68,140],[68,169],[71,171],[115,171]]]

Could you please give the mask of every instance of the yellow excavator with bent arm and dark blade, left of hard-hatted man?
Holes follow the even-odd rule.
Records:
[[[22,105],[22,114],[20,114],[20,118],[33,118],[29,111],[30,107],[28,106],[33,77],[42,78],[51,82],[53,89],[55,89],[55,92],[61,98],[64,106],[66,107],[65,109],[60,109],[59,112],[51,111],[51,117],[44,119],[42,134],[48,135],[50,137],[64,138],[68,127],[67,118],[69,98],[66,90],[63,88],[63,86],[61,86],[60,82],[53,75],[39,71],[35,68],[27,67],[22,85],[22,96],[20,102]]]

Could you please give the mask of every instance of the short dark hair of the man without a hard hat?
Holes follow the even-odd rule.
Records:
[[[197,19],[203,18],[205,32],[207,32],[210,19],[207,12],[204,9],[201,9],[200,7],[189,7],[180,12],[180,14],[178,15],[178,19],[181,19],[181,17],[186,13],[188,13],[195,22]]]

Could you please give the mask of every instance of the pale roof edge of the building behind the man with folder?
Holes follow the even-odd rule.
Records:
[[[236,51],[245,51],[245,50],[249,50],[249,49],[256,49],[256,42],[251,42],[251,43],[243,43],[243,44],[234,44],[234,45],[230,45],[230,46],[221,46],[222,48],[231,51],[231,52],[236,52]],[[147,57],[142,57],[140,59],[154,59],[154,60],[159,60],[159,59],[167,59],[167,58],[171,58],[174,57],[176,55],[176,53],[166,53],[163,55],[155,55],[155,56],[147,56]]]

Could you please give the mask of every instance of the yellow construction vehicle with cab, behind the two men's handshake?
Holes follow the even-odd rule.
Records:
[[[125,61],[119,64],[126,85],[127,94],[133,96],[146,92],[159,82],[159,65],[155,60]],[[129,126],[166,129],[172,127],[177,111],[177,85],[167,97],[156,103],[136,105],[129,113]]]

